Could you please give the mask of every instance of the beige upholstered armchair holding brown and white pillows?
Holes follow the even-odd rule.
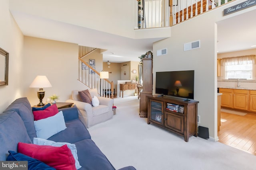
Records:
[[[84,123],[86,128],[92,127],[97,123],[102,123],[113,117],[112,106],[114,103],[113,99],[100,97],[97,89],[90,89],[90,95],[92,98],[97,96],[100,101],[100,105],[94,107],[88,103],[80,101],[78,90],[72,91],[71,99],[66,102],[74,103],[79,109],[79,119]]]

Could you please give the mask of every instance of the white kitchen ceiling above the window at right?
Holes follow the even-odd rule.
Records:
[[[219,21],[218,53],[256,48],[256,10]],[[251,47],[255,45],[255,47]]]

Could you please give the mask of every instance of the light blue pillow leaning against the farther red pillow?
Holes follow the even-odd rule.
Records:
[[[48,139],[52,135],[66,129],[62,111],[54,116],[34,121],[37,137]]]

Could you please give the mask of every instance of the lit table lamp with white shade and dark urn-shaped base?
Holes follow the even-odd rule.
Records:
[[[48,78],[46,76],[36,76],[34,81],[30,84],[30,88],[39,88],[37,91],[37,97],[39,98],[40,102],[37,106],[44,106],[42,100],[44,98],[45,91],[43,88],[52,87]]]

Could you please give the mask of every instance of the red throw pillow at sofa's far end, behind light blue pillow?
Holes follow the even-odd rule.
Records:
[[[53,104],[52,106],[49,106],[44,110],[33,111],[34,120],[36,121],[40,119],[45,119],[47,117],[56,115],[58,112],[59,111],[57,105]]]

